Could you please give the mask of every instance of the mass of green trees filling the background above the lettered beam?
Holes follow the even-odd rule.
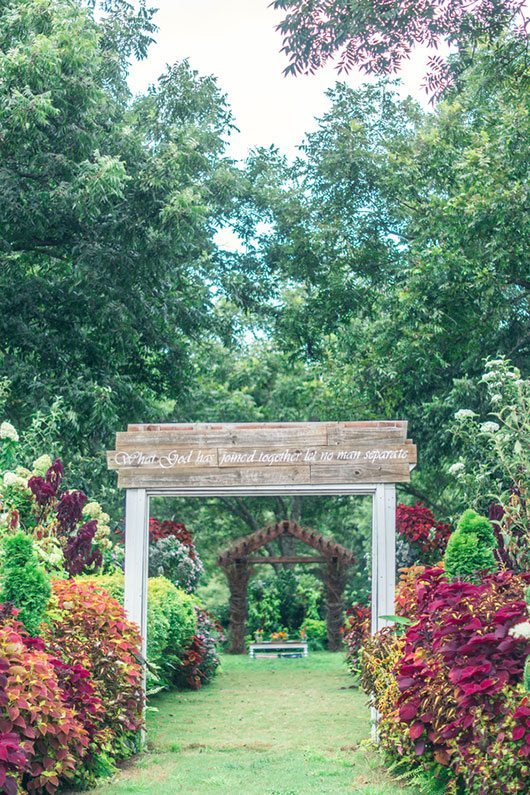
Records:
[[[530,354],[515,5],[495,5],[501,37],[462,49],[432,111],[387,78],[337,83],[298,158],[244,163],[227,155],[235,120],[215,78],[183,61],[132,96],[152,12],[94,5],[0,11],[0,403],[30,426],[25,444],[60,437],[79,485],[117,506],[102,452],[131,420],[404,418],[420,450],[409,496],[462,507],[452,416],[481,409],[485,358],[524,373]],[[296,14],[321,18],[318,3],[281,5],[293,31]],[[434,5],[448,13],[415,4],[385,25],[396,53],[435,35]],[[345,7],[326,8],[333,42]],[[478,36],[459,8],[454,36]],[[226,227],[235,251],[217,243]]]

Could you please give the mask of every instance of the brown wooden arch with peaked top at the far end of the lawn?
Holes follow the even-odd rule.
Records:
[[[266,556],[252,553],[275,541],[282,535],[289,535],[302,541],[318,552],[309,556]],[[326,623],[328,648],[337,651],[341,647],[343,594],[346,587],[348,568],[355,562],[349,549],[337,544],[309,528],[296,522],[283,521],[262,527],[255,533],[245,536],[233,547],[219,555],[217,563],[224,570],[230,587],[230,651],[233,654],[245,652],[245,630],[248,612],[248,581],[252,566],[262,563],[322,563],[325,564],[324,584],[326,587]]]

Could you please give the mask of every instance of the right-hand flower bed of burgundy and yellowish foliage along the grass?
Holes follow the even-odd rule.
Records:
[[[383,748],[438,779],[441,791],[528,791],[530,641],[513,628],[528,617],[529,581],[509,571],[475,583],[420,571],[405,633],[385,629],[365,641],[362,682],[381,716]]]

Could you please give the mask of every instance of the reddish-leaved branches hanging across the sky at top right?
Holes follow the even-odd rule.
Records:
[[[279,30],[289,57],[287,74],[312,73],[330,59],[340,71],[399,70],[418,45],[460,50],[498,41],[508,28],[526,37],[524,0],[274,0],[286,14]],[[429,57],[427,87],[439,95],[454,72],[438,54]]]

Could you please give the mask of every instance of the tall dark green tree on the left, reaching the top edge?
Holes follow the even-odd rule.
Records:
[[[214,243],[238,179],[215,79],[184,61],[131,96],[151,12],[122,0],[96,11],[66,0],[0,11],[7,408],[24,427],[59,399],[61,437],[88,472],[111,429],[181,393],[192,341],[223,325],[214,296],[248,304],[257,289],[247,264],[232,290]]]

